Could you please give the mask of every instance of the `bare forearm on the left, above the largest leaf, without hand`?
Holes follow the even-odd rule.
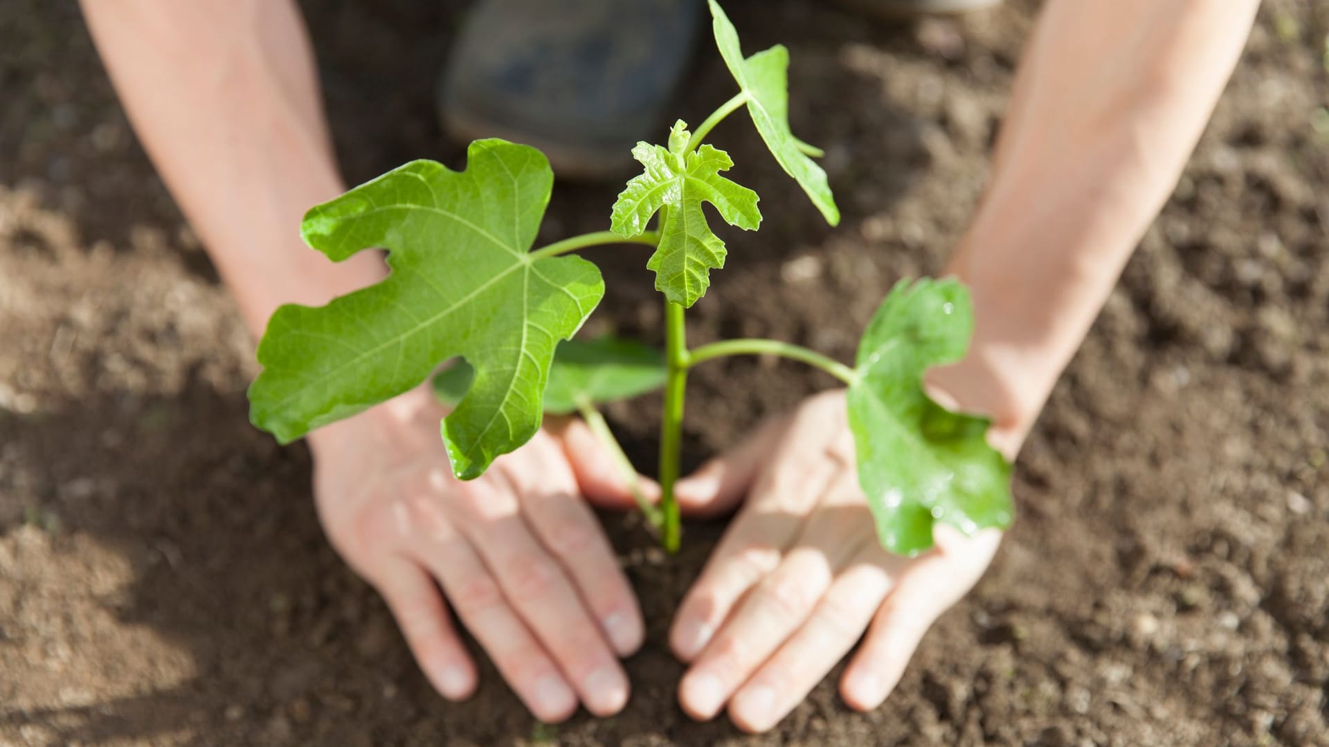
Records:
[[[380,278],[304,247],[304,211],[343,191],[312,52],[291,0],[84,0],[134,130],[258,336],[280,304]]]

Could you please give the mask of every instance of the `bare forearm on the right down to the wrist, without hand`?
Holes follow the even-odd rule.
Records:
[[[1172,191],[1259,0],[1051,0],[1030,39],[979,209],[950,271],[973,291],[969,356],[932,383],[1033,424]]]

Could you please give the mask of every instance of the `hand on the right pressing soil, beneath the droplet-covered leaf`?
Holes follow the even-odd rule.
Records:
[[[771,728],[863,637],[840,679],[857,710],[876,708],[924,633],[982,576],[1001,533],[965,537],[937,525],[916,557],[878,545],[859,488],[844,392],[805,401],[679,481],[679,502],[703,512],[747,502],[679,607],[674,653],[688,715],[728,704],[750,732]]]

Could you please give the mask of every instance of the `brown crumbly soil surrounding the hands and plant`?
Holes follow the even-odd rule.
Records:
[[[844,359],[885,288],[937,271],[961,231],[1033,8],[880,25],[730,4],[752,48],[789,44],[795,125],[828,145],[845,219],[820,225],[727,122],[736,178],[787,209],[731,237],[690,335]],[[431,88],[461,4],[306,5],[348,175],[456,163]],[[750,738],[679,711],[664,645],[719,525],[666,561],[605,517],[651,621],[618,718],[542,727],[492,670],[465,704],[435,696],[323,540],[304,447],[247,424],[250,343],[73,4],[0,4],[0,743],[1329,744],[1326,32],[1324,4],[1267,3],[1021,455],[1014,530],[898,691],[860,715],[832,678]],[[728,96],[710,51],[696,76],[691,120]],[[601,229],[613,193],[560,187],[549,235]],[[591,258],[601,319],[658,340],[639,257]],[[825,384],[764,360],[702,370],[694,464]],[[610,412],[645,468],[657,404]]]

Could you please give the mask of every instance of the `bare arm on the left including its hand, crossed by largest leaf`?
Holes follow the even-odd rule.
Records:
[[[138,137],[255,338],[280,303],[323,304],[384,275],[375,253],[334,265],[300,242],[300,217],[343,183],[292,0],[84,0],[84,12]],[[617,475],[613,463],[541,432],[460,484],[441,416],[417,388],[311,435],[328,540],[384,595],[444,696],[469,696],[478,673],[440,586],[542,720],[567,718],[578,700],[617,712],[629,685],[615,655],[641,645],[643,623],[579,497],[594,486],[578,481]],[[623,484],[597,489],[630,500]]]

